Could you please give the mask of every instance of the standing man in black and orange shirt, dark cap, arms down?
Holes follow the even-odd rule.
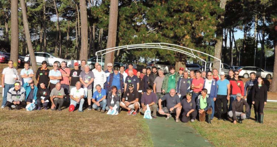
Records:
[[[38,88],[40,86],[40,83],[44,83],[45,87],[48,87],[49,84],[49,72],[50,70],[47,69],[47,62],[46,61],[42,61],[41,63],[41,68],[38,68],[38,71],[36,73],[36,79],[38,81]]]

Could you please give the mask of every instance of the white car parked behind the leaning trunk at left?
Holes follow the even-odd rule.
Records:
[[[54,63],[58,63],[58,67],[61,66],[62,61],[65,61],[64,59],[57,58],[54,55],[50,53],[45,53],[45,52],[34,52],[34,55],[36,57],[36,61],[38,65],[41,65],[42,61],[46,61],[48,65],[53,65]],[[30,54],[26,55],[24,58],[25,62],[30,62],[29,59]],[[66,62],[67,63],[67,62]],[[30,62],[31,64],[31,62]]]

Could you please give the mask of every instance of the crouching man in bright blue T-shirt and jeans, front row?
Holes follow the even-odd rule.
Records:
[[[97,111],[101,111],[101,113],[105,113],[107,100],[106,100],[106,90],[101,88],[101,85],[96,85],[96,90],[93,93],[92,102],[94,103],[92,105],[92,108],[94,110],[97,109]],[[102,109],[102,110],[101,110]]]

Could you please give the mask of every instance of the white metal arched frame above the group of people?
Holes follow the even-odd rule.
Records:
[[[181,49],[178,49],[178,48],[175,48],[175,47],[180,47],[182,49],[185,49],[185,50],[181,50]],[[207,56],[210,56],[211,58],[214,58],[215,61],[213,62],[220,62],[219,65],[221,65],[221,60],[219,58],[216,58],[212,55],[209,55],[207,53],[204,53],[202,51],[197,51],[197,50],[194,50],[194,49],[191,49],[191,48],[188,48],[188,47],[182,47],[180,45],[176,45],[176,44],[170,44],[170,43],[144,43],[144,44],[132,44],[132,45],[125,45],[125,46],[119,46],[119,47],[111,47],[111,48],[106,48],[104,50],[101,50],[101,51],[97,51],[95,53],[96,55],[96,61],[98,61],[98,55],[101,55],[101,63],[103,62],[103,55],[109,53],[109,52],[112,52],[112,51],[116,51],[116,50],[121,50],[121,49],[138,49],[138,48],[158,48],[158,49],[165,49],[165,50],[171,50],[171,51],[176,51],[176,52],[179,52],[179,53],[182,53],[182,54],[185,54],[185,55],[188,55],[192,58],[198,58],[200,59],[201,61],[205,62],[205,71],[206,71],[206,64],[208,63],[207,61],[205,61],[204,59],[198,57],[197,55],[195,55],[193,53],[193,51],[195,52],[198,52],[198,53],[201,53],[201,54],[204,54],[204,55],[207,55]],[[110,50],[110,51],[107,51],[107,50]],[[187,50],[187,51],[186,51]],[[103,51],[106,51],[104,53],[101,53]],[[219,73],[220,73],[220,68],[219,68]]]

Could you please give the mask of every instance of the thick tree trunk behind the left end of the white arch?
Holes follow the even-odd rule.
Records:
[[[110,17],[109,17],[109,31],[108,31],[107,48],[115,47],[117,17],[118,17],[118,0],[113,0],[113,1],[110,1]],[[107,50],[106,52],[111,51],[111,50]],[[107,64],[109,62],[114,63],[114,51],[111,51],[106,54],[104,70],[106,70]]]

